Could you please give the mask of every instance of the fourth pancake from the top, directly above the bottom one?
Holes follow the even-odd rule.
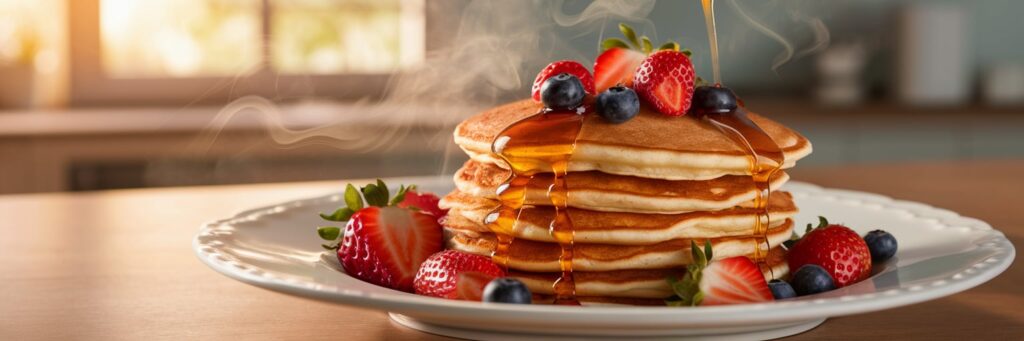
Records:
[[[793,235],[793,221],[768,229],[768,245],[779,246]],[[497,242],[494,233],[444,228],[449,249],[490,256]],[[760,238],[725,237],[710,239],[715,259],[745,256],[757,251]],[[573,246],[572,268],[579,271],[611,271],[683,267],[692,262],[690,242],[703,245],[705,239],[678,239],[652,245],[583,244]],[[517,239],[509,248],[509,268],[523,271],[560,271],[561,247]]]

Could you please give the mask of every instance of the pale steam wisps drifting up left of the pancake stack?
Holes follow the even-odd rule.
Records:
[[[438,3],[443,2],[428,6],[450,5]],[[654,1],[596,1],[578,13],[564,12],[564,5],[563,1],[469,2],[461,15],[442,15],[460,18],[454,34],[440,39],[451,41],[450,45],[428,51],[421,66],[393,76],[382,99],[346,104],[339,112],[338,105],[282,106],[260,96],[245,96],[221,109],[188,151],[206,155],[228,123],[245,116],[257,119],[282,148],[326,144],[370,154],[387,152],[407,139],[406,143],[442,152],[445,162],[439,171],[451,172],[463,158],[451,142],[451,127],[479,110],[522,98],[532,75],[550,60],[587,60],[585,56],[593,53],[574,51],[560,37],[580,37],[618,22],[649,24],[645,17]],[[328,117],[329,123],[290,124],[296,115]],[[408,140],[423,138],[410,132],[424,126],[449,129],[425,140]]]

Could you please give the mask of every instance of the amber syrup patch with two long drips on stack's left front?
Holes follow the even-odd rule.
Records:
[[[552,286],[556,304],[579,304],[575,299],[575,282],[572,279],[575,231],[566,211],[568,187],[565,174],[568,172],[569,158],[575,150],[577,136],[588,112],[590,105],[575,111],[542,110],[505,128],[490,145],[492,152],[512,169],[509,178],[498,187],[499,207],[484,220],[497,236],[498,245],[492,253],[492,259],[506,269],[527,184],[539,173],[554,174],[548,186],[548,198],[554,207],[555,216],[548,231],[561,249],[558,257],[561,275]]]

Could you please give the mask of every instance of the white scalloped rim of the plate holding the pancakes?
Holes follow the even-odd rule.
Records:
[[[403,179],[421,181],[418,183],[422,183],[423,181],[451,181],[447,178],[443,178],[442,180],[439,177]],[[269,275],[267,272],[259,269],[246,269],[238,265],[232,265],[229,258],[233,257],[217,252],[217,248],[211,246],[209,242],[204,242],[205,237],[212,236],[211,232],[218,226],[254,219],[252,217],[254,215],[280,213],[289,208],[302,207],[313,203],[338,202],[341,197],[338,194],[287,201],[275,205],[244,210],[231,215],[229,218],[208,222],[203,225],[199,233],[193,239],[193,249],[204,264],[228,278],[276,292],[345,305],[409,315],[438,313],[438,309],[443,308],[443,312],[450,318],[480,318],[480,312],[500,312],[504,321],[521,323],[544,322],[546,324],[558,325],[582,321],[585,321],[586,325],[622,323],[618,318],[636,315],[643,316],[644,319],[634,319],[627,323],[627,325],[637,328],[664,327],[671,329],[708,325],[750,326],[752,324],[791,323],[820,318],[821,316],[831,317],[863,313],[920,303],[979,286],[1006,270],[1016,255],[1013,245],[1006,239],[1002,232],[992,228],[982,220],[964,217],[949,210],[935,208],[918,202],[894,200],[871,193],[825,188],[800,181],[791,181],[786,183],[783,189],[794,193],[795,197],[827,194],[830,197],[835,197],[836,200],[855,200],[883,205],[883,207],[888,209],[897,208],[914,214],[919,218],[955,220],[963,223],[967,228],[985,231],[989,236],[981,240],[988,241],[986,244],[990,247],[1002,248],[1002,252],[994,252],[993,255],[989,255],[983,261],[979,261],[978,263],[990,263],[984,270],[977,271],[978,273],[967,275],[959,280],[947,281],[949,285],[929,286],[929,288],[912,291],[902,289],[897,293],[881,292],[822,298],[809,297],[780,302],[695,308],[638,306],[588,306],[580,308],[550,305],[483,304],[423,297],[396,291],[382,295],[345,288],[335,288],[334,290],[313,288],[314,286],[309,283],[302,284],[295,281],[287,281],[275,275]],[[950,216],[949,213],[953,215]],[[944,217],[934,218],[929,214]],[[982,245],[975,244],[974,246],[981,247]],[[988,259],[994,259],[993,257],[996,256],[1001,256],[1001,258],[996,259],[994,262],[987,261]],[[958,272],[958,274],[963,274],[963,271]],[[757,313],[763,312],[766,309],[770,309],[772,313]],[[571,313],[566,314],[566,312]]]

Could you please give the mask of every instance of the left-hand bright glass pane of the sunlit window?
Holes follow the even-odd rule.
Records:
[[[112,77],[229,76],[260,62],[260,0],[100,0]]]

